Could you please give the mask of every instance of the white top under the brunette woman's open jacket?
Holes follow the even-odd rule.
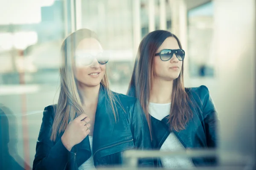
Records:
[[[149,104],[149,113],[155,119],[162,120],[164,117],[169,115],[171,110],[171,103],[166,104],[157,104],[157,103],[150,103]],[[180,143],[177,136],[172,132],[163,142],[160,150],[164,151],[177,151],[177,150],[185,150],[183,144]],[[186,157],[171,157],[166,156],[165,158],[161,158],[161,162],[163,167],[166,168],[192,168],[195,165],[192,162],[192,159]]]

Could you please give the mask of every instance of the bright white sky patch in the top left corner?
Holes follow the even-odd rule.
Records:
[[[0,0],[0,25],[41,22],[41,7],[54,0]]]

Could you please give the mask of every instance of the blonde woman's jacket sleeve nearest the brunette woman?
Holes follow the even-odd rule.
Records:
[[[136,99],[133,111],[131,113],[131,132],[134,138],[134,145],[137,149],[152,149],[148,122],[138,99]],[[140,159],[139,165],[153,167],[154,162],[152,158]]]

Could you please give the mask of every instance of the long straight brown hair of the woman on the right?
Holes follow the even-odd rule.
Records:
[[[169,31],[157,30],[146,35],[140,42],[140,46],[135,59],[134,70],[128,88],[128,95],[137,97],[145,112],[148,126],[151,132],[151,116],[148,113],[148,104],[154,76],[153,59],[157,49],[168,37],[174,37],[180,49],[180,40]],[[184,62],[184,61],[183,61]],[[185,129],[187,122],[192,117],[192,104],[183,83],[183,65],[180,75],[173,80],[172,104],[168,117],[170,130],[180,131]]]

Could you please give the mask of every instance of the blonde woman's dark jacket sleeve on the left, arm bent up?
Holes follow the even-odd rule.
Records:
[[[33,161],[33,170],[63,170],[68,162],[71,153],[64,147],[59,139],[56,142],[50,140],[53,108],[48,106],[44,109],[43,122],[36,144],[35,159]]]

